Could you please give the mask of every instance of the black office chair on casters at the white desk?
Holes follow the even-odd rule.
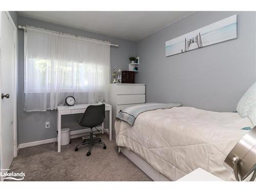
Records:
[[[91,155],[91,149],[92,149],[92,144],[94,143],[99,143],[103,145],[103,149],[106,149],[105,143],[101,142],[100,138],[95,138],[93,139],[93,127],[97,130],[96,126],[100,125],[103,123],[105,119],[105,104],[100,104],[100,105],[89,105],[86,111],[84,112],[81,121],[79,124],[81,126],[85,127],[90,127],[91,132],[90,132],[90,140],[86,141],[84,140],[82,143],[76,145],[75,151],[78,151],[78,146],[84,145],[84,144],[90,144],[89,145],[89,151],[86,154],[87,156]],[[97,130],[99,132],[99,130]]]

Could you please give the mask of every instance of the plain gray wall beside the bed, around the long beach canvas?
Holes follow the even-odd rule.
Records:
[[[165,57],[165,41],[238,15],[238,38]],[[255,81],[255,12],[195,12],[136,42],[147,102],[232,112]]]

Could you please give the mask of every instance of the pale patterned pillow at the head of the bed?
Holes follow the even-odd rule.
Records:
[[[256,82],[238,102],[237,111],[241,117],[248,117],[254,125],[256,124]]]

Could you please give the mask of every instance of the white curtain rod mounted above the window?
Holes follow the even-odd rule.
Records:
[[[24,30],[44,31],[44,29],[36,29],[36,28],[30,28],[30,27],[25,27],[25,26],[20,26],[20,25],[18,26],[18,28],[19,29],[24,29]],[[62,33],[57,32],[57,31],[51,32],[51,31],[45,30],[44,32],[57,34],[57,35],[63,35],[63,36],[76,38],[76,39],[84,39],[84,40],[88,40],[88,41],[95,41],[95,42],[99,42],[101,44],[107,44],[107,45],[110,45],[110,46],[118,47],[118,45],[111,44],[111,43],[101,41],[101,40],[97,40],[97,39],[90,39],[88,37],[80,37],[80,36],[74,36],[74,35],[70,35],[70,34],[62,34]]]

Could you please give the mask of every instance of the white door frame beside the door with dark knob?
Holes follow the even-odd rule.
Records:
[[[14,100],[14,114],[13,114],[13,147],[14,147],[14,154],[13,156],[16,157],[17,156],[17,27],[15,26],[13,19],[10,15],[10,13],[8,11],[2,11],[3,13],[5,13],[8,17],[8,19],[11,22],[11,25],[14,29],[14,90],[13,90],[13,100]],[[0,13],[2,13],[0,12]],[[1,45],[0,45],[1,46]],[[0,52],[0,56],[1,56],[1,52]],[[2,65],[1,63],[2,59],[0,57],[0,65]],[[0,68],[0,74],[1,74],[1,68]],[[2,89],[1,89],[1,79],[0,79],[0,93],[2,93]],[[0,133],[2,134],[2,110],[1,110],[1,102],[0,102]],[[2,162],[2,140],[0,137],[0,158],[1,158],[1,162]],[[0,164],[1,168],[2,168],[2,163]]]

